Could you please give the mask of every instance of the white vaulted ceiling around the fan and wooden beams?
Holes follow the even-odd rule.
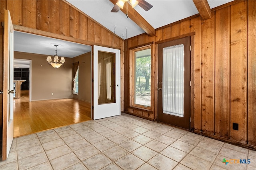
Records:
[[[117,13],[110,12],[114,4],[109,0],[66,0],[98,23],[114,32],[119,37],[126,39],[144,33],[132,20],[126,17],[122,11]],[[198,10],[193,0],[146,0],[153,8],[148,11],[140,6],[135,6],[135,10],[146,20],[154,29],[168,25],[184,18],[198,14]],[[226,4],[232,0],[208,0],[210,8],[215,8]],[[125,4],[126,5],[126,4]],[[116,27],[116,29],[114,29]]]

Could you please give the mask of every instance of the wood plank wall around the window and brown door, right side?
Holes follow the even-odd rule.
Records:
[[[129,49],[194,32],[194,131],[254,148],[255,9],[256,1],[232,2],[212,10],[208,20],[202,21],[200,16],[188,18],[156,29],[155,37],[142,34],[127,41]],[[157,77],[157,69],[155,72]],[[125,85],[129,86],[127,77]],[[125,98],[129,98],[128,94],[126,90]],[[129,111],[127,108],[124,110]],[[157,117],[156,111],[153,114]],[[233,123],[238,123],[238,131],[233,130]]]

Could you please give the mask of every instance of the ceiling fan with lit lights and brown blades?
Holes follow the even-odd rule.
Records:
[[[123,9],[125,2],[130,2],[129,4],[134,8],[137,4],[144,9],[145,11],[150,10],[153,6],[146,2],[145,0],[118,0],[115,4],[115,6],[112,8],[111,12],[118,12],[120,8]]]

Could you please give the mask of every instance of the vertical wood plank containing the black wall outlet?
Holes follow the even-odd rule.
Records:
[[[231,6],[230,123],[238,123],[239,130],[230,128],[230,138],[241,143],[247,140],[247,20],[246,2]]]

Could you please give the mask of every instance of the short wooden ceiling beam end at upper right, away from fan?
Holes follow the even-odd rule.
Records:
[[[202,20],[211,18],[211,8],[207,0],[193,0]]]

